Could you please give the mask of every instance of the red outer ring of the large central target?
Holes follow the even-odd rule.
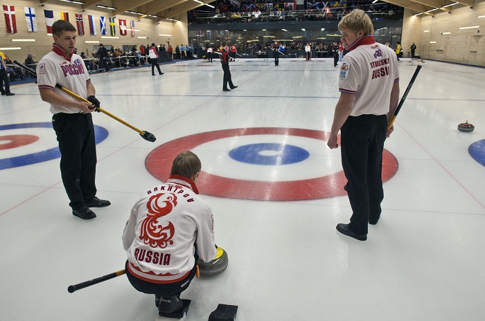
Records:
[[[207,131],[171,140],[160,145],[148,154],[145,166],[153,176],[166,181],[170,174],[172,162],[181,152],[194,149],[212,140],[232,136],[249,135],[286,135],[328,140],[330,133],[311,129],[297,128],[239,128],[220,131]],[[340,137],[339,137],[340,140]],[[340,141],[339,141],[340,143]],[[382,181],[394,176],[398,169],[396,158],[384,149],[382,154]],[[232,199],[253,199],[258,201],[300,201],[308,199],[326,199],[345,195],[346,178],[344,171],[327,176],[305,179],[301,181],[246,181],[227,178],[202,171],[197,189],[206,195],[228,197]]]

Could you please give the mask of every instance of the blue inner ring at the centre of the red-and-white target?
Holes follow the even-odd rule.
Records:
[[[261,155],[261,152],[277,152],[274,156]],[[289,165],[302,162],[310,157],[306,149],[286,144],[261,143],[243,145],[231,149],[229,157],[241,163],[253,165]]]

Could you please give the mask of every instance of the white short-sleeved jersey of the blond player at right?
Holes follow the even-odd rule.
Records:
[[[396,53],[376,43],[373,35],[359,38],[348,49],[340,68],[339,91],[355,94],[351,116],[387,114],[392,86],[399,81]]]

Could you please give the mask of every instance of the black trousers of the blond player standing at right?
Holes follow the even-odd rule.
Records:
[[[342,167],[353,211],[351,229],[367,234],[369,218],[380,217],[382,189],[382,151],[386,140],[387,116],[349,116],[341,129]]]

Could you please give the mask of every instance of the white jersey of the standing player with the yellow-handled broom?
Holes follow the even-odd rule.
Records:
[[[37,84],[40,88],[52,89],[58,95],[69,100],[79,102],[68,93],[55,87],[55,84],[77,93],[82,98],[87,98],[86,84],[91,82],[87,73],[85,62],[76,54],[71,55],[71,59],[64,57],[64,50],[53,45],[50,53],[42,57],[37,64]],[[51,113],[79,113],[80,109],[74,107],[59,106],[51,104]]]

